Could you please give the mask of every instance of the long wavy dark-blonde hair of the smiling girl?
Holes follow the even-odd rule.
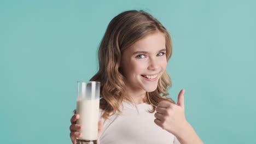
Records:
[[[172,42],[170,34],[161,23],[152,15],[143,10],[129,10],[115,16],[109,23],[98,49],[99,70],[90,81],[100,81],[100,109],[102,117],[108,119],[115,112],[122,113],[120,104],[124,99],[136,104],[131,98],[125,97],[125,77],[120,69],[122,53],[138,40],[155,32],[165,35],[167,62],[172,55]],[[146,103],[153,106],[150,113],[155,111],[156,106],[162,100],[175,102],[168,95],[168,88],[172,86],[170,76],[166,70],[158,81],[158,87],[153,92],[146,92]]]

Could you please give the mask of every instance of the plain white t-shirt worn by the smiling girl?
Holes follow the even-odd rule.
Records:
[[[123,100],[123,105],[120,109],[123,115],[116,112],[107,120],[101,117],[100,109],[104,125],[101,144],[180,144],[173,134],[154,123],[156,111],[148,112],[152,105],[138,104],[138,110],[127,100]]]

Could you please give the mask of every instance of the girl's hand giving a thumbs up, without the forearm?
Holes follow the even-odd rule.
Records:
[[[184,92],[185,89],[179,92],[177,105],[164,100],[156,107],[155,124],[173,135],[179,135],[189,127],[185,118]]]

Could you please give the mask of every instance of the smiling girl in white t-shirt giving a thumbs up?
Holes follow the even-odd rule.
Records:
[[[100,69],[90,80],[101,82],[101,144],[203,143],[185,118],[185,90],[177,104],[166,98],[171,55],[170,34],[145,11],[125,11],[110,21],[98,51]],[[71,118],[73,143],[82,135],[77,119]]]

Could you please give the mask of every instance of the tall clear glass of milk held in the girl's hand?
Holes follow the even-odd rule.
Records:
[[[77,138],[78,144],[95,144],[98,139],[98,112],[100,109],[100,82],[77,82],[77,124],[83,129],[82,136]]]

